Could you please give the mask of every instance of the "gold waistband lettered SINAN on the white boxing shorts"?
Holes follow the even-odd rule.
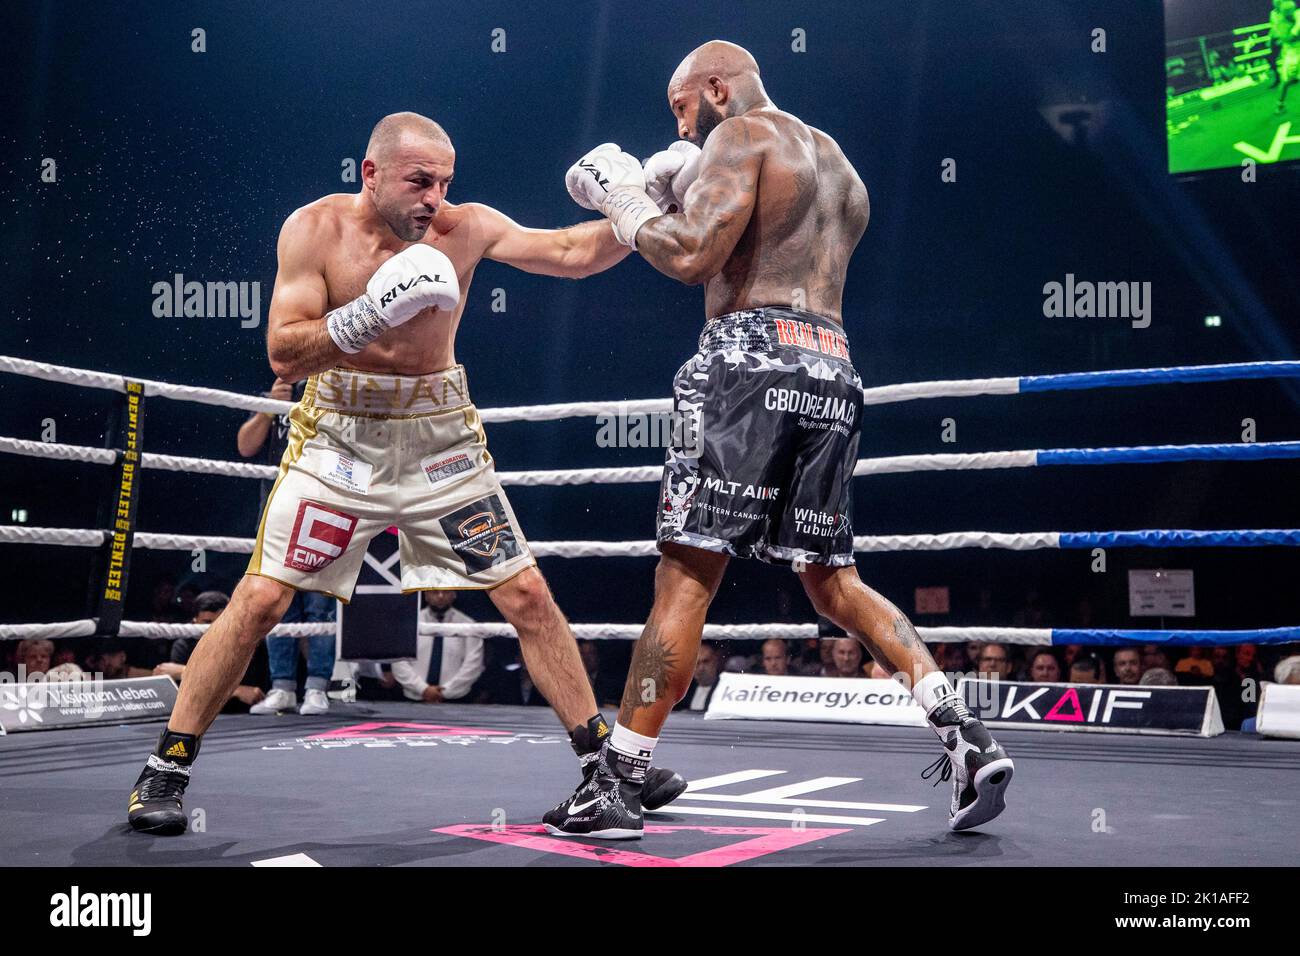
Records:
[[[332,368],[307,380],[303,406],[374,419],[438,415],[469,406],[464,365],[425,375]]]

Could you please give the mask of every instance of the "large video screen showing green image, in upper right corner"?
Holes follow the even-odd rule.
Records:
[[[1165,0],[1165,99],[1170,173],[1300,160],[1296,0]]]

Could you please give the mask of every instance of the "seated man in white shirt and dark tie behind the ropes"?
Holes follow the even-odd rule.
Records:
[[[420,623],[473,623],[468,614],[451,606],[455,601],[455,591],[425,591]],[[424,704],[462,700],[484,672],[484,639],[420,633],[415,659],[394,661],[391,670],[407,700]]]

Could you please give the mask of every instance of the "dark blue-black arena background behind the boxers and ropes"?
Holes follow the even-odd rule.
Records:
[[[1179,5],[1178,0],[1171,0]],[[1240,5],[1240,4],[1239,4]],[[1268,16],[1258,0],[1258,17]],[[1296,356],[1297,177],[1261,169],[1165,173],[1161,4],[1139,0],[852,3],[190,3],[13,4],[0,44],[4,267],[0,354],[255,393],[272,373],[265,328],[155,319],[152,285],[260,281],[296,207],[333,191],[374,121],[396,109],[445,125],[451,200],[526,225],[588,213],[563,174],[604,140],[649,155],[675,137],[664,90],[681,57],[724,38],[758,59],[775,103],[842,146],[871,191],[845,321],[868,385]],[[207,30],[207,52],[190,31]],[[507,52],[493,53],[491,31]],[[1091,31],[1106,31],[1106,52]],[[802,29],[807,52],[792,52]],[[1292,95],[1292,100],[1300,96]],[[1048,117],[1075,105],[1086,134]],[[40,182],[43,157],[57,183]],[[957,182],[940,178],[957,161]],[[1045,319],[1066,273],[1150,282],[1153,321]],[[506,290],[508,311],[489,308]],[[458,358],[481,407],[653,398],[694,349],[702,291],[636,256],[571,282],[485,263]],[[1222,315],[1222,328],[1204,316]],[[103,444],[113,394],[0,375],[0,434]],[[1297,434],[1297,392],[1278,381],[1157,386],[868,408],[861,453],[1239,441]],[[956,445],[940,421],[957,421]],[[234,459],[244,414],[148,403],[146,449]],[[499,467],[650,464],[654,449],[595,445],[595,423],[489,428]],[[0,457],[0,520],[91,527],[108,470]],[[1294,462],[1037,468],[859,479],[855,529],[875,532],[1296,527]],[[654,485],[511,489],[533,540],[647,538]],[[252,535],[252,481],[147,471],[142,531]],[[0,545],[0,619],[82,617],[90,553]],[[185,553],[136,550],[127,617],[150,583],[187,576]],[[230,588],[246,558],[209,554],[203,587]],[[1300,562],[1286,549],[952,551],[859,558],[911,609],[948,584],[953,613],[920,623],[1011,623],[1037,593],[1046,624],[1154,626],[1127,615],[1126,570],[1193,567],[1196,626],[1300,623]],[[650,559],[542,559],[575,620],[634,622]],[[785,570],[733,567],[715,622],[806,620]],[[982,596],[982,592],[984,594]],[[1087,602],[1089,609],[1080,607]],[[482,617],[482,601],[465,602]]]

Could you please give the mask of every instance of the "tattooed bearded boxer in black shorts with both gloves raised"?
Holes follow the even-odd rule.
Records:
[[[841,299],[867,228],[867,190],[831,137],[772,105],[758,64],[737,46],[715,40],[690,53],[668,83],[668,105],[679,135],[702,152],[675,143],[642,169],[606,143],[566,177],[620,242],[667,276],[703,282],[708,320],[673,382],[686,427],[664,464],[655,600],[619,721],[595,774],[546,826],[641,835],[642,780],[690,684],[731,555],[792,564],[819,614],[914,684],[945,748],[923,777],[953,780],[953,830],[984,823],[1004,809],[1011,761],[853,558],[862,382]]]

